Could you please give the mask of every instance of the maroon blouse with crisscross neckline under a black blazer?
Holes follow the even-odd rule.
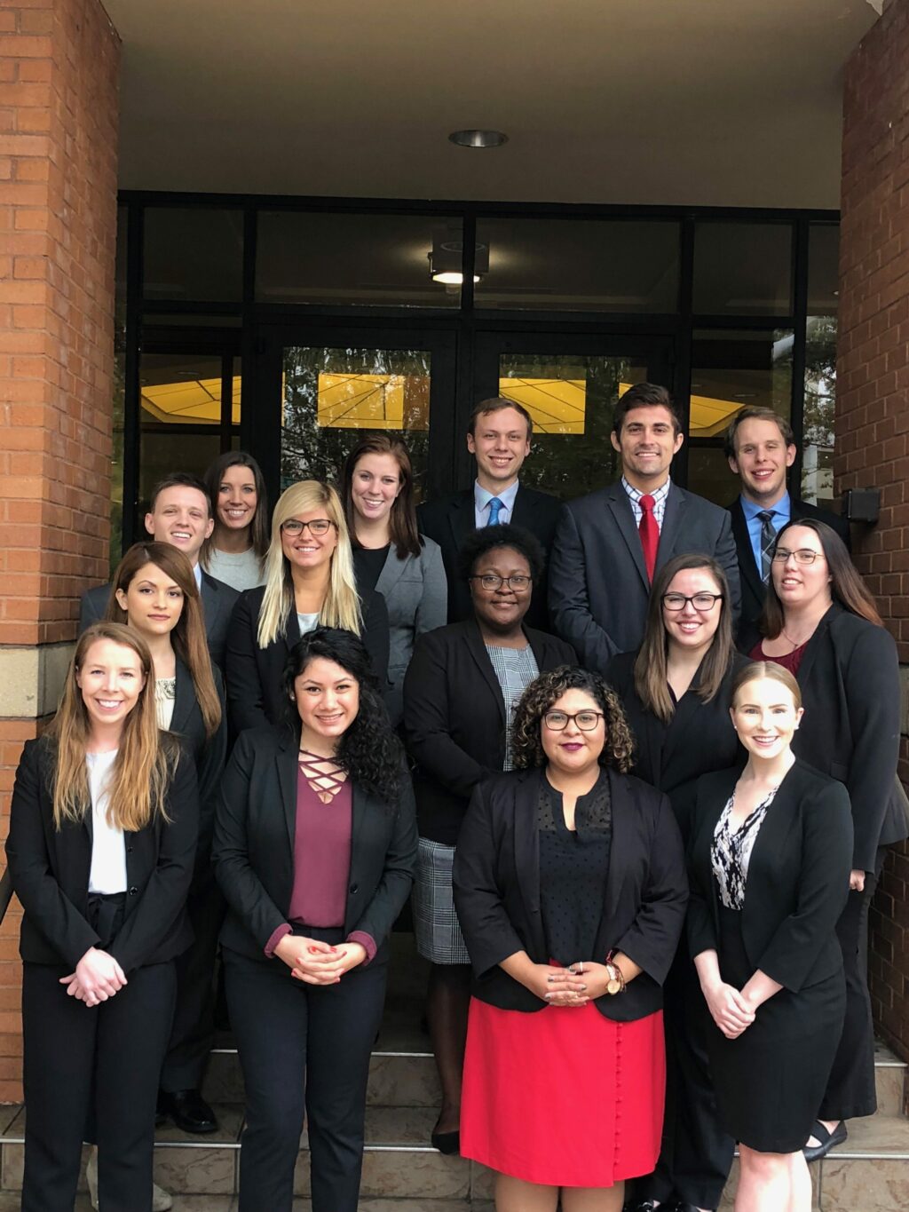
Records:
[[[297,818],[293,834],[293,888],[288,924],[279,926],[265,945],[269,957],[295,922],[301,926],[344,925],[350,882],[353,788],[344,782],[331,804],[322,804],[302,770],[297,771]],[[376,942],[364,931],[353,931],[348,943],[366,948],[366,962],[376,954]]]

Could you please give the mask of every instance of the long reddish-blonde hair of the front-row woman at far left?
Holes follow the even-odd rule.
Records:
[[[91,811],[86,747],[91,734],[88,711],[76,674],[88,650],[98,640],[113,640],[139,658],[145,685],[124,720],[120,744],[108,783],[108,821],[124,831],[144,829],[155,817],[167,821],[165,795],[176,768],[179,748],[160,732],[155,713],[155,678],[152,654],[142,636],[120,623],[95,623],[82,633],[63,686],[63,697],[47,734],[56,742],[53,823],[79,824]]]

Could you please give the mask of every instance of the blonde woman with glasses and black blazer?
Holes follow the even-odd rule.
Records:
[[[356,593],[344,510],[319,480],[292,484],[271,518],[265,584],[240,595],[227,642],[227,694],[234,733],[279,724],[281,678],[301,636],[339,627],[362,638],[378,685],[388,676],[388,611],[381,594]]]

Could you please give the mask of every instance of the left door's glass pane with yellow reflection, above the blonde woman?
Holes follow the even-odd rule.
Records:
[[[281,490],[338,482],[348,452],[378,430],[407,444],[417,499],[429,445],[425,350],[288,347],[284,351]]]

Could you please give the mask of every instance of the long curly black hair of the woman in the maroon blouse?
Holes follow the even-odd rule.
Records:
[[[338,627],[318,627],[293,645],[282,679],[286,722],[299,736],[302,725],[293,684],[316,657],[341,665],[360,687],[360,709],[341,738],[335,760],[353,783],[377,795],[391,811],[401,791],[404,749],[391,728],[370,654],[359,635]]]

